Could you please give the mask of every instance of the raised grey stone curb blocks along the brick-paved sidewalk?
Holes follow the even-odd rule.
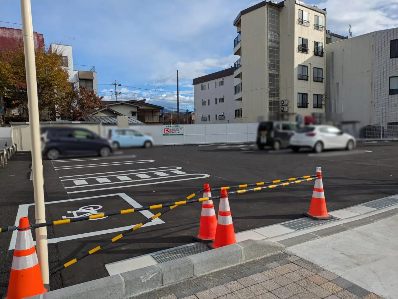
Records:
[[[154,266],[100,278],[30,299],[122,299],[146,291],[209,274],[281,252],[285,246],[266,240],[245,240]]]

